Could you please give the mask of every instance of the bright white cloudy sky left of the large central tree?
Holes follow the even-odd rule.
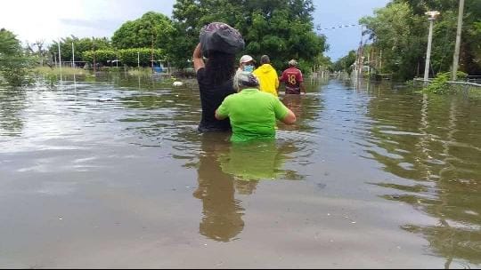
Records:
[[[126,20],[156,11],[170,17],[175,0],[16,0],[2,1],[0,28],[21,41],[63,36],[112,36]]]

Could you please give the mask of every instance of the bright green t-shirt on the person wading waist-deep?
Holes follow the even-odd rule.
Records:
[[[288,108],[272,94],[257,89],[244,89],[228,96],[217,114],[231,119],[231,141],[274,139],[276,119],[282,120]]]

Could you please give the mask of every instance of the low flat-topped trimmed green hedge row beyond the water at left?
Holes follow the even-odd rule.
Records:
[[[83,54],[83,59],[88,63],[95,62],[104,66],[111,66],[111,60],[116,60],[118,54],[118,60],[123,64],[130,67],[137,67],[138,57],[140,56],[140,65],[142,67],[151,66],[151,54],[152,50],[149,48],[137,48],[137,49],[123,49],[123,50],[98,50],[87,51]],[[165,53],[160,49],[153,50],[154,60],[165,60]]]

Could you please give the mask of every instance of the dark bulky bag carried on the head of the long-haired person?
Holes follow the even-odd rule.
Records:
[[[224,22],[212,22],[200,30],[200,48],[208,57],[210,52],[236,54],[244,49],[239,31]]]

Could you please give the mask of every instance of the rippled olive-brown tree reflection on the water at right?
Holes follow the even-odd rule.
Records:
[[[376,183],[387,200],[411,204],[436,218],[402,226],[422,234],[436,255],[481,264],[481,102],[462,97],[379,94],[368,152],[403,181]]]

